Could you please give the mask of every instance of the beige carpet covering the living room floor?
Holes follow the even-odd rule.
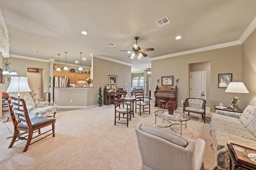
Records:
[[[129,127],[123,124],[114,126],[114,106],[90,107],[72,111],[57,111],[55,137],[47,137],[22,152],[26,141],[14,143],[8,149],[12,135],[12,122],[0,124],[0,169],[1,170],[139,170],[140,151],[135,133],[138,123],[154,125],[154,111],[151,114],[134,115]],[[214,152],[211,149],[210,113],[206,123],[198,114],[190,114],[187,128],[182,135],[192,139],[206,141],[204,166],[206,170],[214,168]],[[161,123],[157,119],[157,123]],[[7,127],[10,131],[8,131]],[[180,125],[173,125],[176,131]],[[170,128],[164,128],[172,131]],[[42,129],[43,131],[43,129]]]

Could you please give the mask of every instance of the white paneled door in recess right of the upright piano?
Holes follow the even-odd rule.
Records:
[[[190,98],[206,99],[206,71],[190,72]]]

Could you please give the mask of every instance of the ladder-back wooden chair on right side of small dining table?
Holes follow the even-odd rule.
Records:
[[[135,105],[135,112],[141,113],[148,112],[150,114],[150,97],[144,97],[143,89],[136,89],[135,90],[135,98],[136,98],[136,105]],[[145,100],[148,99],[148,100]],[[139,111],[137,111],[137,109]]]

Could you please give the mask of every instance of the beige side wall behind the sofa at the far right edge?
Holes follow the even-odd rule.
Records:
[[[256,30],[242,44],[242,82],[250,94],[242,94],[242,108],[256,106]],[[239,103],[240,106],[240,103]]]

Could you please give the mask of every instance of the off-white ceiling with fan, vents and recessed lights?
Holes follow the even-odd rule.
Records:
[[[238,41],[256,16],[255,0],[0,0],[10,55],[91,66],[89,54],[148,68],[150,59]],[[159,27],[157,20],[170,22]],[[88,35],[80,32],[86,31]],[[182,36],[176,40],[177,35]],[[148,57],[130,59],[136,43]],[[109,47],[108,43],[116,46]],[[40,54],[35,53],[40,51]]]

